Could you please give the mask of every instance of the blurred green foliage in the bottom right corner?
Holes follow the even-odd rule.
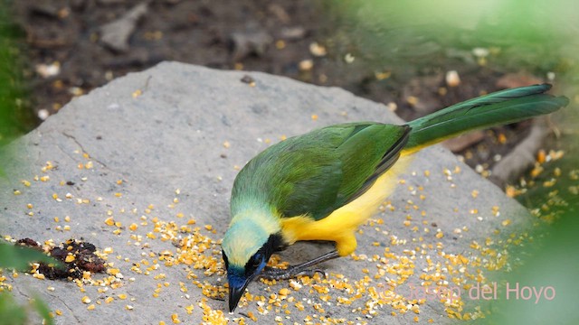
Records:
[[[530,299],[523,295],[517,299],[515,294],[506,299],[506,290],[502,289],[502,299],[493,304],[492,313],[480,320],[480,324],[579,324],[576,308],[579,210],[576,200],[569,202],[572,206],[563,211],[555,224],[537,228],[533,236],[541,238],[541,244],[535,246],[533,254],[519,255],[523,266],[502,277],[510,288],[519,283],[519,288],[535,287],[536,292],[540,292],[541,287],[550,286],[555,297],[549,300],[551,294],[534,292]]]

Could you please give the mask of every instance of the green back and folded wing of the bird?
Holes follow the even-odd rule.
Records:
[[[272,145],[235,179],[232,214],[260,203],[282,217],[325,218],[395,163],[409,130],[370,122],[332,125]]]

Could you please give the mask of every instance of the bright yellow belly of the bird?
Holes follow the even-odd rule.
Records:
[[[403,154],[398,162],[375,181],[359,198],[335,210],[318,221],[307,216],[281,218],[281,234],[293,244],[299,240],[328,240],[336,242],[339,255],[350,255],[356,250],[356,229],[372,217],[380,204],[394,191],[398,175],[412,161]]]

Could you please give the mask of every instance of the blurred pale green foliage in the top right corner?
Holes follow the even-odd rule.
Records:
[[[432,70],[576,70],[579,28],[572,0],[326,0],[328,46],[369,70],[408,79]],[[480,52],[488,51],[481,59]],[[577,77],[574,77],[577,78]]]

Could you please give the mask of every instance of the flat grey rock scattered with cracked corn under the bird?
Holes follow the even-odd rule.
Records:
[[[57,324],[169,324],[172,317],[192,324],[225,317],[402,324],[472,316],[479,302],[463,285],[489,276],[485,258],[497,259],[498,268],[505,262],[484,255],[483,247],[496,248],[489,240],[498,246],[530,217],[441,146],[415,154],[384,211],[360,229],[356,256],[324,265],[327,280],[258,281],[248,289],[253,300],[227,313],[218,240],[239,167],[284,135],[356,120],[403,122],[345,90],[263,73],[165,62],[116,79],[12,144],[12,159],[3,163],[8,176],[0,181],[0,235],[56,244],[83,238],[122,275],[82,290],[71,281],[8,272],[5,283],[20,299],[39,292],[52,311],[62,311]],[[295,263],[329,249],[299,243],[280,256]],[[460,287],[461,300],[417,301],[429,283]]]

